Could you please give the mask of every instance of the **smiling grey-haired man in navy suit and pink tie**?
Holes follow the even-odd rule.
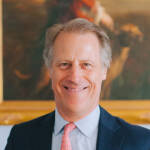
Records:
[[[54,25],[46,35],[56,110],[15,125],[5,150],[150,150],[150,131],[99,106],[110,66],[109,39],[85,19]]]

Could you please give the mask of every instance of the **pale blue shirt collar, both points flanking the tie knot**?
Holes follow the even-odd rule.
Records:
[[[81,120],[78,120],[77,122],[74,122],[74,124],[82,134],[84,134],[87,137],[91,137],[94,131],[98,129],[99,118],[100,118],[100,107],[97,106],[89,115],[87,115]],[[67,123],[69,122],[64,120],[56,109],[54,134],[55,135],[59,134]]]

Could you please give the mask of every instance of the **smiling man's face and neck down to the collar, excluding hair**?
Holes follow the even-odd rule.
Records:
[[[106,77],[98,38],[91,32],[62,32],[53,48],[50,76],[56,107],[64,118],[82,118],[98,105]]]

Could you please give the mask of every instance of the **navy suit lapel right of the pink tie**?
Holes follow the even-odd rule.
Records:
[[[115,117],[107,113],[103,108],[99,121],[99,130],[96,150],[121,150],[124,139],[121,126]]]

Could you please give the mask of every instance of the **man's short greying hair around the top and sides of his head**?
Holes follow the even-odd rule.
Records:
[[[101,45],[100,48],[101,62],[106,68],[110,67],[112,54],[111,54],[109,37],[107,36],[107,34],[100,28],[100,26],[97,26],[86,19],[76,18],[67,23],[55,24],[52,27],[48,28],[46,32],[45,48],[43,53],[44,61],[48,68],[50,68],[53,59],[53,44],[57,36],[62,31],[79,32],[79,33],[87,33],[87,32],[95,33]]]

